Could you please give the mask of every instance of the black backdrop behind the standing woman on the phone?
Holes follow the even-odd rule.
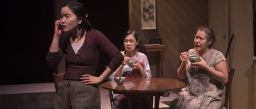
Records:
[[[92,26],[120,50],[121,36],[129,28],[128,0],[78,1],[85,5]],[[54,34],[54,3],[54,0],[2,1],[0,85],[53,82],[56,68],[47,66],[46,55]],[[102,52],[97,76],[109,62],[110,58]]]

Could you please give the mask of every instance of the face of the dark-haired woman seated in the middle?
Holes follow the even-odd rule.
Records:
[[[130,34],[126,36],[126,38],[123,40],[123,45],[126,50],[126,52],[133,52],[135,50],[136,45],[138,45],[138,41],[136,41],[133,34]]]

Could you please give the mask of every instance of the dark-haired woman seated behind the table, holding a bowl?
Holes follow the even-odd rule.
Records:
[[[123,54],[124,61],[116,71],[109,76],[111,80],[119,75],[126,78],[151,78],[151,71],[149,69],[149,62],[147,56],[136,49],[139,47],[141,41],[139,40],[138,33],[134,30],[128,30],[123,35],[123,46],[125,48],[121,53]],[[128,66],[129,61],[136,61],[133,67]],[[128,99],[121,94],[113,94],[112,109],[126,109],[128,108]],[[135,99],[143,99],[148,104],[148,97],[135,97]],[[135,100],[134,100],[135,101]]]

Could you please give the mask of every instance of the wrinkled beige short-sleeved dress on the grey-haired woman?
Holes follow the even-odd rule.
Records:
[[[197,55],[195,49],[190,49],[187,54]],[[206,64],[214,69],[221,61],[226,61],[224,55],[217,50],[210,49],[202,57]],[[182,89],[175,109],[225,109],[225,86],[214,79],[204,69],[191,66],[189,59],[186,64],[188,84]]]

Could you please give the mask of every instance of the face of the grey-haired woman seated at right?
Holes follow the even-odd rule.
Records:
[[[211,42],[212,41],[207,40],[206,33],[199,30],[194,37],[194,48],[198,52],[204,52],[208,48],[208,45],[211,44]]]

